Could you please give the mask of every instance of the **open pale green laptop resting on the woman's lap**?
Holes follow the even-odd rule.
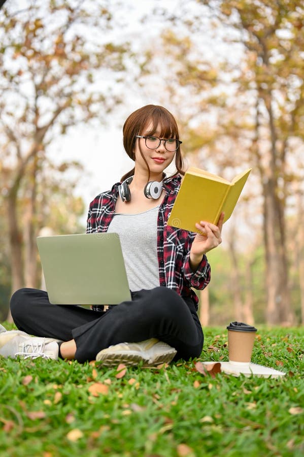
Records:
[[[37,237],[46,289],[55,305],[131,300],[117,233]]]

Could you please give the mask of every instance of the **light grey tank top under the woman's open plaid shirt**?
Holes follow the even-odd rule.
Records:
[[[119,234],[132,292],[159,286],[157,260],[158,206],[139,214],[115,214],[108,232]]]

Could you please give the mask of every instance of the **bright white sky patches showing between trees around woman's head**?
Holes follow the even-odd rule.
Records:
[[[102,2],[102,0],[98,0]],[[117,0],[118,1],[118,0]],[[25,0],[18,0],[17,4],[21,8],[25,6]],[[102,4],[102,3],[100,3]],[[100,36],[94,36],[98,40],[113,40],[121,42],[123,40],[132,43],[132,49],[141,54],[145,44],[153,43],[153,37],[159,34],[161,27],[170,27],[170,23],[158,20],[153,13],[155,8],[165,8],[168,12],[181,10],[181,5],[185,9],[183,17],[192,9],[197,11],[197,3],[194,0],[126,0],[120,2],[119,8],[115,0],[111,0],[111,7],[115,10],[115,20],[119,23],[113,32],[104,34],[100,31]],[[201,13],[199,10],[199,14]],[[144,24],[140,21],[143,16],[147,16],[151,21]],[[205,18],[207,19],[207,18]],[[210,26],[211,27],[211,26]],[[225,52],[222,42],[221,31],[217,31],[217,37],[211,37],[209,24],[206,29],[201,31],[199,42],[197,43],[200,52],[205,57],[215,60],[222,52]],[[89,37],[91,40],[92,37]],[[155,75],[161,75],[161,68],[155,69]],[[156,79],[151,79],[152,84],[157,85]],[[159,81],[159,80],[158,80]],[[161,79],[160,79],[161,81]],[[149,87],[145,87],[146,94],[152,93]],[[77,126],[71,128],[65,136],[53,141],[49,147],[49,156],[55,163],[60,164],[66,160],[78,160],[84,166],[84,172],[78,181],[76,194],[80,195],[85,203],[85,212],[82,222],[85,223],[87,208],[90,201],[96,194],[108,190],[112,185],[120,180],[120,177],[133,167],[133,162],[126,155],[122,145],[122,125],[126,117],[134,110],[147,104],[160,104],[158,91],[155,89],[155,96],[144,95],[127,88],[124,91],[124,103],[114,112],[108,115],[106,126],[89,127]],[[167,107],[170,109],[170,107]],[[177,116],[177,113],[173,112]],[[179,123],[179,118],[177,117]],[[174,165],[167,174],[175,170]]]

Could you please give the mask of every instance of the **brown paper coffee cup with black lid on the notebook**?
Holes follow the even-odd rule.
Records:
[[[230,322],[228,330],[228,356],[230,364],[248,365],[257,329],[244,322]]]

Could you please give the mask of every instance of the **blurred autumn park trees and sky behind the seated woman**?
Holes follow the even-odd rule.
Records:
[[[84,232],[89,202],[132,168],[122,124],[152,103],[177,118],[188,165],[252,168],[208,255],[201,322],[303,323],[303,21],[289,0],[5,2],[0,319],[12,291],[40,287],[42,229]]]

